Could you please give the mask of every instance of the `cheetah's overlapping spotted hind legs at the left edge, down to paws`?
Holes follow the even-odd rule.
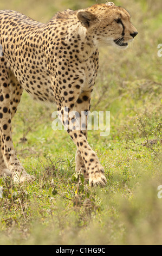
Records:
[[[4,62],[4,60],[3,60]],[[25,169],[22,167],[20,161],[17,159],[15,154],[14,145],[12,143],[11,134],[11,119],[14,117],[18,103],[20,102],[23,88],[21,84],[17,81],[16,77],[6,66],[6,63],[1,63],[0,68],[5,72],[1,74],[0,77],[0,87],[1,87],[1,174],[10,173],[12,174],[12,179],[15,182],[23,182],[25,180],[33,180],[33,176],[30,176]],[[3,86],[5,83],[5,86]],[[5,99],[5,100],[4,100]],[[9,109],[10,108],[10,109]],[[8,109],[10,111],[8,111]],[[5,162],[3,161],[5,160]],[[6,164],[5,164],[6,163]],[[8,167],[8,168],[6,168]],[[9,169],[9,170],[8,170]]]

